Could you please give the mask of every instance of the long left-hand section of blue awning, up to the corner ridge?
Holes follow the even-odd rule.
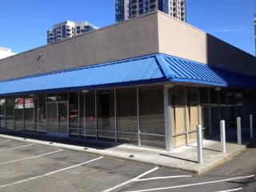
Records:
[[[0,95],[78,90],[166,81],[154,56],[109,62],[0,82]]]

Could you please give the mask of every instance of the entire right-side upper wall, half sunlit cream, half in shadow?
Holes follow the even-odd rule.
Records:
[[[254,56],[161,12],[158,38],[160,53],[256,75]]]

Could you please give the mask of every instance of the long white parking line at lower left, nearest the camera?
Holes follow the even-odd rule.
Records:
[[[72,169],[72,168],[74,168],[74,167],[82,166],[82,165],[84,165],[84,164],[86,164],[86,163],[94,162],[94,161],[97,161],[98,159],[101,159],[101,158],[103,158],[103,157],[94,158],[94,159],[92,159],[92,160],[90,160],[90,161],[82,162],[82,163],[80,163],[80,164],[78,164],[78,165],[68,166],[68,167],[63,168],[63,169],[61,169],[61,170],[55,170],[55,171],[52,171],[52,172],[50,172],[50,173],[48,173],[48,174],[41,174],[41,175],[38,175],[38,176],[36,176],[36,177],[34,177],[34,178],[26,178],[26,179],[20,180],[20,181],[18,181],[18,182],[12,182],[12,183],[9,183],[9,184],[0,186],[0,188],[4,188],[4,187],[6,187],[6,186],[14,186],[14,185],[20,184],[20,183],[22,183],[22,182],[28,182],[28,181],[33,180],[33,179],[36,179],[36,178],[42,178],[42,177],[48,176],[48,175],[50,175],[50,174],[58,173],[58,172],[63,171],[63,170],[70,170],[70,169]]]

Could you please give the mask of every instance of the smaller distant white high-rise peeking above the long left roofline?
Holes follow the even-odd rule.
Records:
[[[93,26],[90,22],[60,22],[47,30],[47,43],[61,41],[65,38],[71,38],[75,35],[88,33],[97,30],[97,26]]]

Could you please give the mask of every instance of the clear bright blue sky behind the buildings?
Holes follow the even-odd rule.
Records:
[[[8,0],[0,3],[0,46],[15,53],[46,45],[46,31],[66,20],[114,24],[114,0]],[[256,0],[186,0],[187,22],[255,54]]]

